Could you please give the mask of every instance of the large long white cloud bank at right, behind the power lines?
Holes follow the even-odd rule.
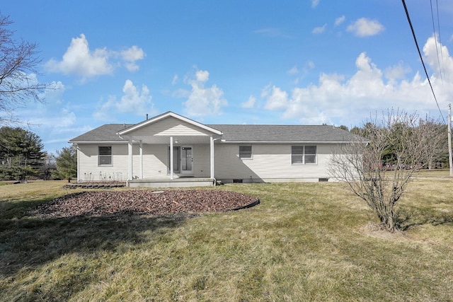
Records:
[[[434,37],[427,40],[423,52],[429,67],[438,70]],[[453,58],[447,47],[442,46],[442,52],[444,82],[440,81],[437,71],[431,81],[440,108],[446,108],[447,102],[453,99]],[[268,85],[261,94],[265,99],[264,108],[280,112],[283,119],[298,120],[303,124],[335,121],[335,124],[347,126],[360,123],[370,114],[386,108],[439,115],[425,76],[416,72],[408,78],[411,70],[403,62],[389,66],[384,72],[362,52],[357,56],[355,66],[357,70],[350,77],[321,74],[317,84],[296,87],[292,91]]]

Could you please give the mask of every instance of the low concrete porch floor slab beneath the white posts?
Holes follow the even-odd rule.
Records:
[[[212,187],[212,178],[175,178],[168,179],[137,179],[129,180],[129,187]]]

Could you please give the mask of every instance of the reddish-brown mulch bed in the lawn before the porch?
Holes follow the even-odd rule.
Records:
[[[40,204],[33,214],[47,217],[117,214],[200,214],[252,207],[257,197],[224,190],[127,190],[78,192]]]

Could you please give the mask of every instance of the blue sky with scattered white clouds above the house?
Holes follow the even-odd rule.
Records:
[[[406,4],[446,118],[453,1],[437,1],[435,28],[429,0]],[[401,1],[30,0],[0,12],[17,39],[38,43],[37,79],[56,88],[16,112],[50,153],[101,124],[167,111],[350,128],[388,108],[440,117]]]

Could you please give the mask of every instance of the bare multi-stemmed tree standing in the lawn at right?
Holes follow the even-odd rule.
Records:
[[[361,129],[366,141],[351,141],[332,156],[331,175],[363,199],[387,231],[395,231],[394,207],[411,176],[428,164],[432,132],[420,127],[426,122],[416,113],[389,110]]]

